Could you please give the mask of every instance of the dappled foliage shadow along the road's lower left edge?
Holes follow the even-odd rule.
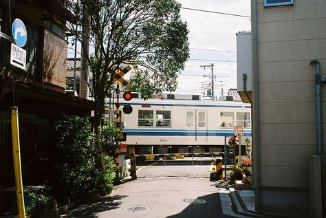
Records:
[[[67,218],[92,218],[98,217],[96,213],[113,210],[120,207],[121,199],[128,197],[128,195],[114,195],[100,197],[94,202],[85,202],[78,206],[78,208],[69,212],[69,215],[62,215]]]

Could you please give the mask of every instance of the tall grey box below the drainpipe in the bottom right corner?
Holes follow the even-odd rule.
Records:
[[[326,155],[309,155],[309,217],[326,217]]]

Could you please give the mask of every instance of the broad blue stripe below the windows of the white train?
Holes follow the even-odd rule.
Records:
[[[127,135],[151,135],[151,136],[195,136],[195,132],[190,131],[126,131]],[[219,132],[197,132],[197,136],[226,136],[231,137],[234,133]],[[251,136],[251,133],[244,133],[244,136]]]

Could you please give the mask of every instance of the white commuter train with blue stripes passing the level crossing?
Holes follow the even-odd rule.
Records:
[[[138,154],[224,151],[235,126],[243,127],[243,136],[251,136],[251,107],[239,96],[221,96],[216,101],[191,95],[120,100],[120,107],[127,104],[133,111],[121,113],[121,120],[127,145]]]

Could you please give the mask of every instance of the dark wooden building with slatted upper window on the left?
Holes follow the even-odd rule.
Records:
[[[19,109],[24,185],[39,185],[45,180],[40,172],[47,166],[54,121],[65,115],[90,116],[91,101],[65,94],[67,17],[69,12],[57,1],[0,0],[0,199],[1,190],[14,186],[12,106]],[[28,36],[23,46],[25,70],[10,64],[12,42],[8,36],[12,37],[12,21],[17,18],[25,24]]]

